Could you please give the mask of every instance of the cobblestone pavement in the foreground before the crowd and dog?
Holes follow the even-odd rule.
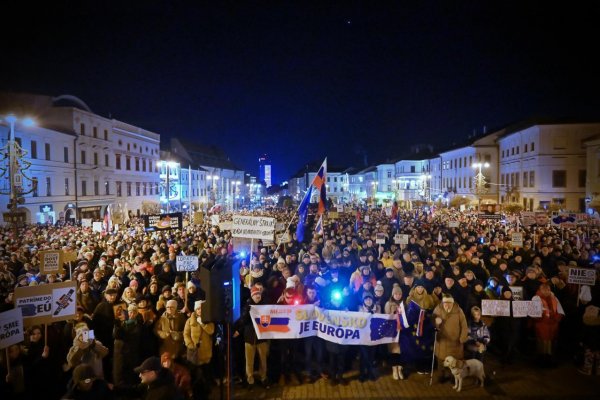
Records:
[[[476,387],[471,379],[463,383],[457,393],[453,383],[438,383],[434,375],[429,385],[429,375],[411,374],[405,380],[395,381],[388,367],[375,382],[361,383],[357,372],[344,375],[347,385],[331,386],[327,380],[301,385],[280,386],[273,384],[268,390],[256,385],[248,390],[234,385],[234,399],[600,399],[600,376],[584,376],[577,372],[573,362],[561,362],[556,368],[534,367],[533,363],[521,361],[502,366],[493,357],[485,363],[486,386]],[[213,395],[218,393],[213,392]],[[223,397],[225,398],[225,397]]]

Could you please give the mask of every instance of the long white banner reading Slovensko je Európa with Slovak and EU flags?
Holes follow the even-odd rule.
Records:
[[[252,306],[250,316],[259,339],[318,336],[338,344],[373,346],[398,340],[394,315],[327,310],[314,305]]]

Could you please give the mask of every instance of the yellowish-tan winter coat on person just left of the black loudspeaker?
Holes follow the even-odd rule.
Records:
[[[212,335],[215,324],[199,322],[199,317],[192,314],[185,322],[183,340],[187,348],[187,360],[194,365],[208,364],[212,358]]]

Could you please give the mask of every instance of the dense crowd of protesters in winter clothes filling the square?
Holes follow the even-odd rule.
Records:
[[[293,210],[256,213],[284,226],[294,216]],[[535,357],[540,368],[576,354],[569,361],[581,373],[600,375],[600,285],[567,279],[577,267],[595,268],[598,280],[594,227],[519,227],[477,213],[394,208],[391,215],[372,209],[326,219],[323,234],[309,224],[301,243],[289,228],[291,240],[257,241],[236,267],[242,312],[231,338],[222,321],[203,319],[208,283],[198,271],[177,272],[175,262],[197,255],[200,269],[231,268],[229,231],[207,222],[145,232],[136,219],[110,233],[60,224],[22,227],[18,235],[3,229],[0,311],[14,307],[16,287],[66,280],[77,283],[77,311],[69,321],[29,326],[23,343],[2,352],[2,397],[206,398],[229,383],[225,345],[233,347],[229,378],[248,389],[319,379],[345,384],[356,365],[360,381],[384,374],[401,381],[429,374],[433,357],[443,382],[446,356],[485,362],[488,352],[507,365]],[[522,247],[512,246],[516,229]],[[408,234],[408,243],[397,243],[396,233]],[[46,249],[75,251],[77,259],[63,274],[43,275],[38,255]],[[485,299],[536,299],[542,315],[482,315]],[[377,346],[318,337],[260,340],[250,318],[250,307],[260,304],[393,314],[399,340]]]

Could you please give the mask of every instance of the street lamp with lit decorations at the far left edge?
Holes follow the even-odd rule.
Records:
[[[1,121],[1,120],[0,120]],[[20,223],[25,222],[26,214],[24,211],[18,211],[18,205],[25,203],[23,198],[24,194],[31,193],[37,189],[37,179],[29,178],[25,175],[24,171],[29,169],[31,163],[25,161],[23,158],[27,155],[27,152],[21,148],[19,143],[15,140],[15,125],[17,122],[23,126],[29,127],[35,125],[35,122],[31,118],[17,118],[13,114],[9,114],[4,117],[4,121],[8,122],[9,126],[9,137],[8,143],[0,151],[2,159],[4,161],[8,158],[8,166],[6,168],[0,167],[0,177],[3,177],[8,172],[9,179],[9,212],[4,213],[4,221],[13,224],[15,235],[17,234],[17,228]],[[31,188],[28,191],[23,190],[23,179],[31,182]],[[7,194],[7,193],[4,193]]]

